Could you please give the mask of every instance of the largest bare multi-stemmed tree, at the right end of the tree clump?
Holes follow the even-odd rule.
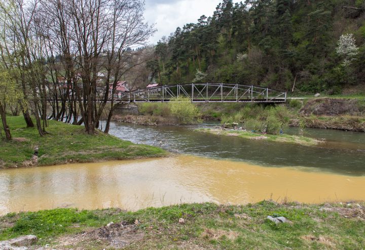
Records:
[[[61,55],[67,85],[73,85],[71,97],[75,98],[75,108],[80,109],[85,130],[93,133],[109,100],[112,109],[108,116],[112,116],[111,94],[136,64],[127,49],[143,44],[153,34],[153,26],[143,23],[140,0],[50,0],[43,1],[42,6],[45,19],[50,12],[57,17],[49,25],[49,36],[56,41],[52,46],[58,47],[53,51]],[[99,81],[101,72],[105,77]]]

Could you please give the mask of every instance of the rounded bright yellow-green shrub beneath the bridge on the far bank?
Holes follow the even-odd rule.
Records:
[[[175,117],[180,124],[192,124],[196,122],[200,116],[198,108],[191,103],[190,98],[173,98],[171,99],[169,106],[171,116]]]

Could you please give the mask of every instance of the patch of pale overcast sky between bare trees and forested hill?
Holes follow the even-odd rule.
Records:
[[[157,32],[150,38],[156,44],[162,36],[168,37],[177,27],[196,23],[200,16],[212,16],[221,0],[145,0],[144,19],[155,24]]]

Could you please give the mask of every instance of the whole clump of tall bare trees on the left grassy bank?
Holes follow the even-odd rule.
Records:
[[[117,83],[141,64],[130,48],[155,32],[143,22],[143,5],[142,0],[6,0],[1,5],[11,31],[3,38],[13,58],[9,65],[19,72],[24,96],[31,96],[40,135],[46,133],[47,99],[52,118],[63,120],[66,114],[70,122],[73,117],[89,134],[111,102],[108,132]]]

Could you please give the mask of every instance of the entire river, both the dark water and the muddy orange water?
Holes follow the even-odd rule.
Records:
[[[168,158],[0,170],[0,215],[56,207],[246,204],[269,198],[365,200],[363,133],[307,129],[308,136],[326,142],[306,147],[201,134],[194,128],[112,123],[110,133],[122,139],[179,153]]]

